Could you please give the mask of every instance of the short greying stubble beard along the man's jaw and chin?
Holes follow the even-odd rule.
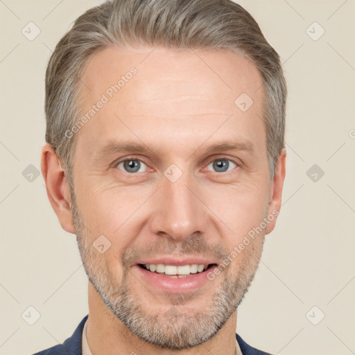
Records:
[[[258,251],[250,252],[251,248],[249,248],[248,255],[247,252],[240,254],[238,257],[243,257],[243,262],[234,275],[231,275],[228,268],[218,275],[224,279],[214,291],[208,311],[191,312],[189,302],[193,302],[193,294],[167,294],[164,302],[161,302],[162,307],[160,309],[157,307],[157,311],[153,312],[144,306],[144,293],[149,293],[148,289],[141,285],[143,292],[140,295],[132,292],[128,281],[128,275],[132,272],[130,268],[123,266],[120,284],[112,275],[112,270],[107,267],[105,254],[100,254],[93,247],[92,242],[88,243],[90,238],[86,234],[72,189],[71,212],[80,256],[89,282],[94,286],[107,308],[120,322],[125,324],[125,327],[146,343],[160,349],[188,349],[212,338],[236,311],[245,293],[248,292],[263,248],[262,241],[261,245],[259,244],[256,248],[259,249]],[[130,277],[130,280],[137,283],[134,275]],[[205,290],[207,289],[208,286],[205,285]],[[150,298],[159,305],[157,297],[149,296],[152,296]],[[206,307],[208,301],[203,300],[203,293],[196,291],[195,296],[199,297],[200,304]]]

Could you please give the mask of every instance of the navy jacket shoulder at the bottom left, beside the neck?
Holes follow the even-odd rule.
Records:
[[[42,350],[41,352],[36,352],[33,355],[82,355],[81,340],[86,320],[87,315],[85,315],[78,327],[76,327],[73,335],[67,338],[64,343]]]

